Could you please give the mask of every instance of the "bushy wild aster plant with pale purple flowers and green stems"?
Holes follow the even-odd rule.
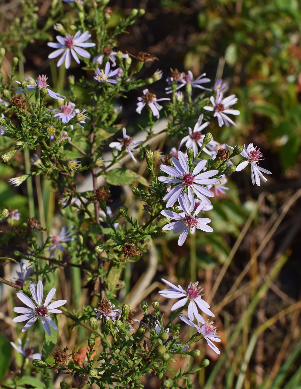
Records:
[[[14,172],[7,180],[9,185],[25,191],[30,198],[27,213],[20,213],[21,221],[10,216],[12,223],[19,223],[18,228],[0,235],[5,246],[13,239],[22,241],[10,254],[21,266],[19,280],[1,282],[13,286],[16,297],[26,305],[19,307],[16,301],[13,309],[21,314],[12,318],[17,331],[17,323],[22,321],[27,323],[21,332],[38,331],[40,319],[46,333],[41,335],[44,344],[40,353],[26,354],[19,339],[18,347],[13,347],[23,356],[33,357],[35,368],[44,369],[41,379],[47,387],[53,385],[50,370],[54,370],[69,374],[72,380],[77,377],[83,385],[100,388],[143,387],[142,377],[150,372],[162,381],[162,388],[179,387],[182,379],[185,388],[192,388],[188,377],[205,368],[208,359],[192,367],[187,365],[183,372],[178,370],[172,375],[170,371],[176,357],[200,356],[195,347],[203,338],[220,354],[221,349],[213,343],[220,341],[218,329],[199,312],[214,317],[214,306],[210,308],[203,300],[196,279],[191,279],[186,289],[163,279],[171,289],[161,290],[159,297],[180,299],[171,311],[163,315],[162,305],[160,308],[153,300],[152,308],[142,301],[144,313],[134,314],[137,307],[126,302],[131,264],[142,257],[150,258],[158,237],[171,240],[173,234],[179,233],[178,245],[189,246],[193,236],[212,232],[206,212],[214,207],[215,193],[224,194],[228,189],[224,184],[235,170],[250,163],[252,182],[257,185],[259,178],[266,181],[261,172],[270,172],[258,167],[262,154],[253,145],[236,145],[229,147],[232,151],[221,148],[217,154],[211,153],[218,142],[208,131],[210,112],[214,112],[219,126],[235,124],[226,114],[239,114],[231,109],[237,98],[223,98],[222,80],[213,88],[214,82],[205,74],[194,79],[190,70],[187,74],[173,71],[166,87],[170,97],[164,97],[163,88],[157,99],[151,84],[161,79],[161,70],[149,78],[140,73],[144,63],[155,58],[143,52],[135,57],[113,50],[117,36],[142,17],[144,10],[133,9],[118,25],[110,27],[113,11],[107,8],[107,1],[64,1],[68,3],[65,7],[51,9],[44,43],[46,48],[56,49],[48,55],[51,63],[61,56],[57,63],[59,77],[64,77],[65,69],[70,68],[71,72],[79,68],[82,77],[62,78],[52,88],[54,91],[48,88],[46,75],[37,75],[36,81],[28,84],[16,74],[16,57],[10,81],[0,77],[6,99],[0,100],[2,163]],[[54,30],[65,35],[56,36],[58,42],[54,43],[52,27],[58,18],[64,25],[56,25]],[[76,31],[75,26],[80,30]],[[60,68],[63,63],[65,69]],[[193,100],[192,88],[201,91],[201,97]],[[144,115],[145,125],[126,129],[121,120],[121,103],[133,92],[138,103],[137,108],[132,107],[131,116],[138,121],[138,114]],[[212,107],[207,105],[210,102]],[[153,143],[157,136],[154,125],[163,117],[167,119],[164,132],[174,140],[174,147],[172,154],[161,156],[159,165],[152,149],[156,151],[157,146]],[[143,137],[138,138],[138,133]],[[169,144],[166,149],[170,149]],[[236,157],[239,154],[242,161]],[[20,159],[24,163],[17,165]],[[83,177],[89,177],[85,186],[81,186]],[[119,190],[122,195],[114,202]],[[6,223],[9,212],[3,213],[1,223]],[[39,221],[35,219],[36,212]],[[55,213],[59,226],[54,226]],[[54,227],[58,232],[53,232]],[[173,234],[168,234],[170,230]],[[70,273],[77,277],[70,286],[74,301],[64,298],[63,287],[62,298],[53,300],[55,282],[68,279],[70,285]],[[191,274],[194,278],[197,274],[193,263]],[[89,290],[87,295],[81,292],[81,282]],[[85,297],[81,300],[81,296]],[[60,320],[65,317],[68,321],[65,339],[70,339],[71,330],[80,327],[79,342],[85,344],[82,359],[67,355],[64,349],[56,351],[54,361],[49,361],[62,331],[57,314]],[[196,333],[187,338],[187,328]],[[66,385],[63,380],[61,387]]]

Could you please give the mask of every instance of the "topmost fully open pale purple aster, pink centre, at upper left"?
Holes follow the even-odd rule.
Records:
[[[57,35],[56,39],[59,43],[49,42],[47,46],[53,47],[55,50],[53,53],[49,54],[48,58],[56,58],[59,55],[63,54],[58,61],[56,66],[61,66],[61,64],[65,61],[65,67],[68,69],[71,63],[71,54],[77,63],[80,63],[77,54],[82,56],[83,58],[90,58],[91,55],[82,47],[93,47],[95,43],[86,42],[91,37],[89,31],[85,31],[81,34],[81,31],[78,31],[74,37],[67,34],[65,37],[61,37]]]

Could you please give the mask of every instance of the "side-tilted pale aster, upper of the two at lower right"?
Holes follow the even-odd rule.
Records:
[[[198,313],[198,308],[200,308],[204,314],[208,316],[214,316],[214,314],[208,309],[210,308],[210,305],[202,299],[203,294],[200,293],[203,291],[203,289],[198,287],[198,281],[190,282],[186,290],[184,290],[182,286],[175,286],[163,278],[162,281],[170,286],[171,289],[163,289],[162,291],[159,291],[159,294],[165,298],[180,299],[177,301],[177,303],[173,304],[171,308],[172,311],[176,311],[177,309],[184,307],[187,301],[189,301],[187,308],[189,319],[193,320],[195,317],[196,320],[200,321],[201,323],[205,323],[203,317]]]

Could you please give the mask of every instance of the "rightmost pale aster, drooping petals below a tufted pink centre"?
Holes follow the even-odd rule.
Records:
[[[228,146],[230,149],[234,149],[234,147]],[[263,154],[260,152],[260,149],[257,150],[257,147],[253,146],[253,143],[250,143],[247,148],[244,145],[243,151],[240,153],[243,157],[247,158],[246,161],[243,161],[239,163],[236,166],[236,172],[240,172],[243,170],[249,163],[251,165],[251,178],[252,178],[252,184],[256,184],[257,186],[260,186],[260,179],[263,180],[263,182],[267,182],[268,180],[266,177],[264,177],[263,173],[266,174],[272,174],[269,170],[266,170],[264,168],[261,168],[258,166],[258,161],[263,161],[264,158]]]

